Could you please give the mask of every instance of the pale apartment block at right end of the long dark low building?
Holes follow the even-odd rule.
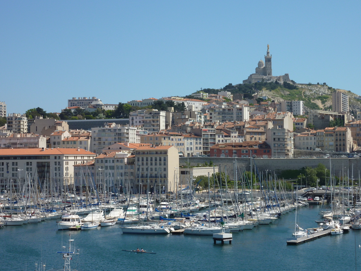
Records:
[[[130,112],[129,123],[131,126],[140,125],[148,132],[160,132],[165,129],[166,112],[157,109],[141,109]]]

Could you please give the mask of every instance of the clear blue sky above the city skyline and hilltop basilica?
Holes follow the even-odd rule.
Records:
[[[273,75],[360,90],[361,1],[4,1],[0,101],[60,112]]]

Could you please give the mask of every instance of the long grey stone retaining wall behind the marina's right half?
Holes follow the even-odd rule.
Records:
[[[185,157],[179,158],[179,165],[187,165],[187,162],[191,166],[202,165],[205,162],[209,164],[210,161],[213,162],[214,166],[221,165],[222,171],[225,170],[225,165],[227,166],[228,175],[233,177],[233,164],[235,159],[237,160],[237,165],[239,168],[245,167],[247,171],[250,170],[250,158],[220,158],[220,157]],[[317,167],[321,163],[326,166],[327,169],[330,168],[330,159],[328,158],[293,158],[293,159],[252,159],[252,169],[254,170],[254,165],[258,170],[264,171],[266,169],[271,171],[280,172],[286,169],[301,169],[303,167]],[[338,174],[339,171],[342,171],[342,167],[352,170],[354,176],[358,176],[358,170],[361,168],[361,159],[360,158],[331,158],[332,171]]]

